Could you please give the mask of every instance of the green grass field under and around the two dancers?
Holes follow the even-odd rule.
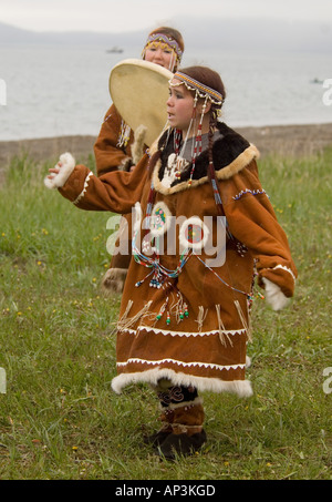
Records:
[[[256,299],[255,396],[205,393],[208,442],[169,463],[142,444],[158,428],[154,393],[111,390],[120,299],[100,289],[110,214],[44,188],[46,163],[12,161],[0,186],[0,479],[331,479],[331,164],[332,150],[260,162],[297,294],[280,314]]]

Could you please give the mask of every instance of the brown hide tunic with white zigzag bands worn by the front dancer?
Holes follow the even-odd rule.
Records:
[[[197,256],[190,255],[178,277],[157,289],[151,287],[151,277],[145,279],[152,269],[132,258],[120,313],[118,376],[112,382],[115,391],[134,381],[156,383],[159,378],[169,378],[174,385],[250,396],[245,371],[255,268],[260,285],[266,277],[287,297],[293,295],[297,270],[286,234],[258,178],[258,151],[226,124],[218,129],[214,163],[231,234],[225,263],[207,267],[210,256],[203,249]],[[172,152],[173,141],[154,167],[154,208],[163,203],[164,213],[183,217],[183,223],[193,216],[201,222],[205,216],[212,216],[210,235],[216,243],[217,207],[206,175],[207,152],[197,158],[190,187],[190,168],[166,187],[162,178]],[[87,167],[76,166],[61,193],[83,209],[128,213],[139,202],[144,217],[151,184],[147,165],[145,155],[133,173],[110,173],[101,178]],[[141,238],[143,235],[141,232]],[[167,225],[164,237],[167,242]],[[178,246],[175,254],[160,255],[159,263],[169,270],[176,269]],[[137,287],[139,281],[143,283]],[[169,324],[166,311],[157,319],[166,300]],[[184,305],[188,317],[180,319],[179,307]]]

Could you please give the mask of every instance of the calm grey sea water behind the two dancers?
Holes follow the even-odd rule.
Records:
[[[111,105],[112,68],[139,53],[139,48],[124,53],[103,47],[0,48],[0,141],[96,136]],[[332,79],[330,54],[187,50],[183,65],[191,64],[220,73],[224,120],[232,127],[332,122],[332,105],[323,100],[324,82]]]

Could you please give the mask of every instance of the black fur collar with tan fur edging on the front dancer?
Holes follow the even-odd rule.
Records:
[[[217,139],[214,142],[212,155],[217,180],[229,180],[231,176],[243,170],[253,160],[259,157],[255,145],[248,143],[240,134],[228,127],[225,123],[218,123]],[[158,148],[162,150],[160,160],[153,171],[154,187],[157,192],[167,195],[188,189],[191,164],[181,173],[180,180],[176,180],[168,188],[162,184],[167,158],[174,152],[174,133],[167,141],[166,131],[158,141]],[[167,141],[167,144],[165,144]],[[193,176],[191,187],[207,183],[208,151],[205,150],[196,160],[196,167]]]

